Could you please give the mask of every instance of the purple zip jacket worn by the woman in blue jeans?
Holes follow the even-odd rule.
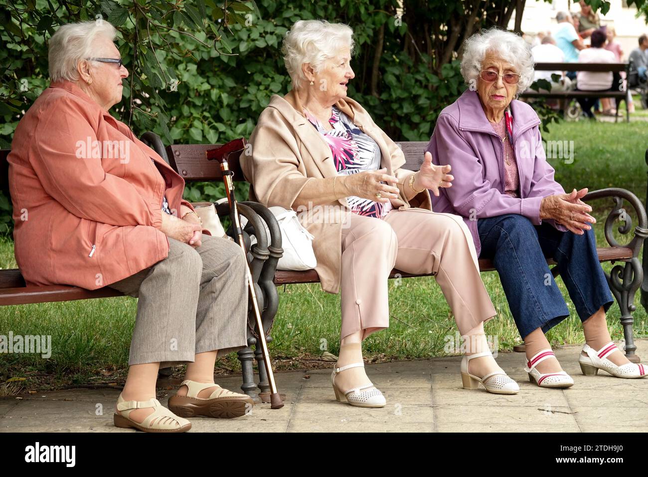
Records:
[[[450,164],[454,175],[452,187],[432,193],[434,212],[463,217],[470,229],[477,254],[480,236],[477,221],[481,217],[520,214],[540,225],[540,201],[543,197],[564,193],[553,180],[553,167],[547,162],[540,138],[540,119],[533,108],[522,101],[511,101],[513,150],[520,174],[520,197],[503,193],[504,166],[502,140],[493,130],[481,107],[477,92],[466,90],[447,106],[437,119],[426,151],[433,164]],[[553,220],[546,222],[563,232],[567,229]]]

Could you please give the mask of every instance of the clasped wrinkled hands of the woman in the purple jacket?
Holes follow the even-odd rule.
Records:
[[[596,223],[596,219],[588,212],[592,207],[581,199],[587,189],[573,190],[571,193],[555,194],[544,197],[540,202],[540,219],[554,219],[557,223],[566,226],[567,230],[577,235],[583,235],[584,230],[592,227],[588,223]]]

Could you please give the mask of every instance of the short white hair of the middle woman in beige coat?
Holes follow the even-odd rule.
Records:
[[[299,20],[286,32],[281,53],[292,80],[292,88],[298,90],[306,80],[301,66],[310,63],[319,73],[325,62],[349,47],[353,55],[353,30],[343,23],[326,20]]]

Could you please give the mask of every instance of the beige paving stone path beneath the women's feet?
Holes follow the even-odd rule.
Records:
[[[638,356],[648,361],[648,339],[636,345]],[[330,370],[275,373],[286,394],[282,409],[259,404],[237,419],[192,418],[190,432],[647,432],[648,378],[619,379],[603,371],[583,376],[580,349],[555,350],[574,379],[569,389],[529,383],[524,354],[500,352],[498,363],[520,384],[516,395],[462,389],[461,356],[367,365],[387,399],[378,409],[336,402]],[[240,379],[217,382],[237,391]],[[157,397],[166,405],[173,393],[163,390]],[[113,389],[81,388],[0,398],[0,432],[138,432],[113,426],[118,395]]]

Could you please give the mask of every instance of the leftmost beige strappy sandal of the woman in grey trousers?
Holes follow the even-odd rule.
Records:
[[[141,423],[128,417],[133,410],[141,408],[154,408],[154,411]],[[120,394],[117,398],[117,410],[123,413],[113,415],[113,422],[117,427],[135,428],[144,432],[186,432],[191,429],[191,422],[176,416],[156,398],[148,401],[127,401]]]

